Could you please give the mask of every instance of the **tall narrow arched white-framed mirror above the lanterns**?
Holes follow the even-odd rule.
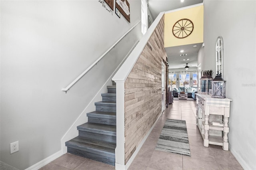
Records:
[[[216,41],[216,75],[221,75],[223,78],[223,39],[218,37]]]

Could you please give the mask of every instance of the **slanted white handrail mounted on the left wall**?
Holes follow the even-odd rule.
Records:
[[[94,61],[94,63],[92,63],[92,65],[90,65],[84,72],[82,72],[78,77],[76,77],[76,79],[74,79],[74,81],[72,81],[67,87],[62,88],[62,91],[65,91],[67,93],[67,91],[70,89],[70,87],[72,87],[78,80],[80,80],[94,65],[96,65],[118,42],[120,42],[120,40],[122,40],[122,38],[124,38],[132,29],[134,29],[138,24],[140,23],[140,21],[138,21],[134,26],[132,26],[132,28],[130,28],[130,30],[128,30],[121,38],[119,38],[105,53],[103,53],[96,61]]]

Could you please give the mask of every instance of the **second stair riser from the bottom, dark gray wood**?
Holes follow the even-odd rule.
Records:
[[[111,136],[106,134],[98,134],[98,133],[79,130],[79,136],[116,143],[116,136]]]

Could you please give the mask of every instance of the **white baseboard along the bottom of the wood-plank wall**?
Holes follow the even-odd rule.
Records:
[[[132,154],[132,156],[128,160],[128,162],[125,165],[116,164],[116,170],[128,170],[129,166],[132,164],[132,161],[137,156],[138,152],[140,151],[141,147],[143,146],[144,142],[148,138],[148,136],[151,133],[151,131],[153,130],[153,128],[156,126],[156,123],[160,119],[161,116],[162,116],[162,113],[158,116],[158,118],[156,119],[154,125],[150,128],[150,130],[148,131],[147,135],[143,138],[142,142],[140,142],[138,148],[135,150],[134,154]]]

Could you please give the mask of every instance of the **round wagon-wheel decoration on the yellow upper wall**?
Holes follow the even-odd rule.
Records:
[[[189,19],[178,20],[172,27],[172,34],[176,38],[186,38],[194,30],[194,24]]]

